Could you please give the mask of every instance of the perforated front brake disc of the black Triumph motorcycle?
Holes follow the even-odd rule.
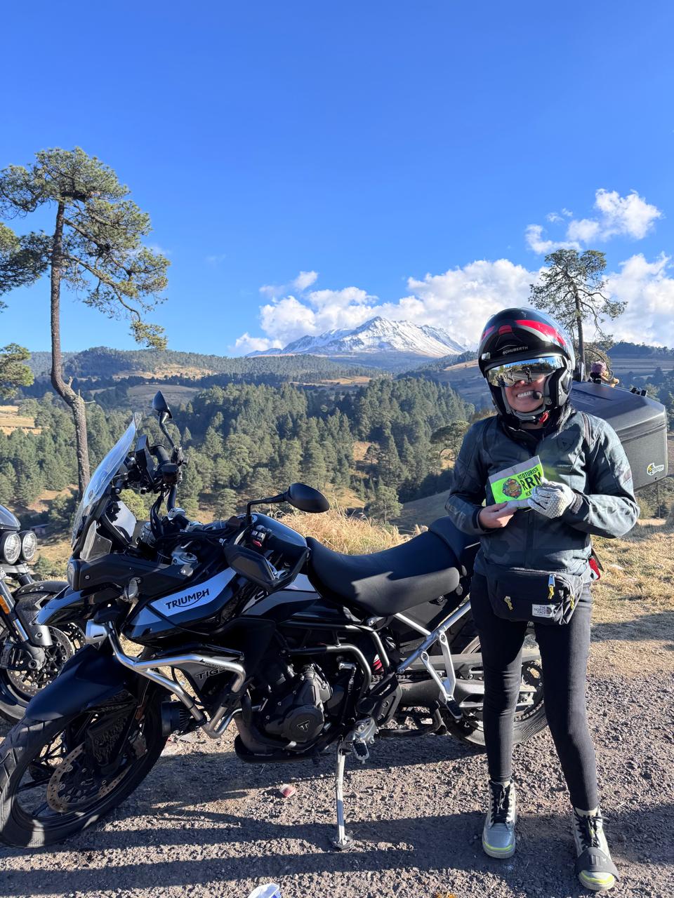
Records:
[[[131,748],[137,758],[146,753],[146,740],[142,733],[131,743]],[[58,811],[59,814],[82,811],[109,795],[132,766],[132,763],[128,763],[117,776],[107,779],[96,770],[93,759],[84,753],[84,743],[80,743],[66,755],[49,779],[47,803],[52,811]]]

